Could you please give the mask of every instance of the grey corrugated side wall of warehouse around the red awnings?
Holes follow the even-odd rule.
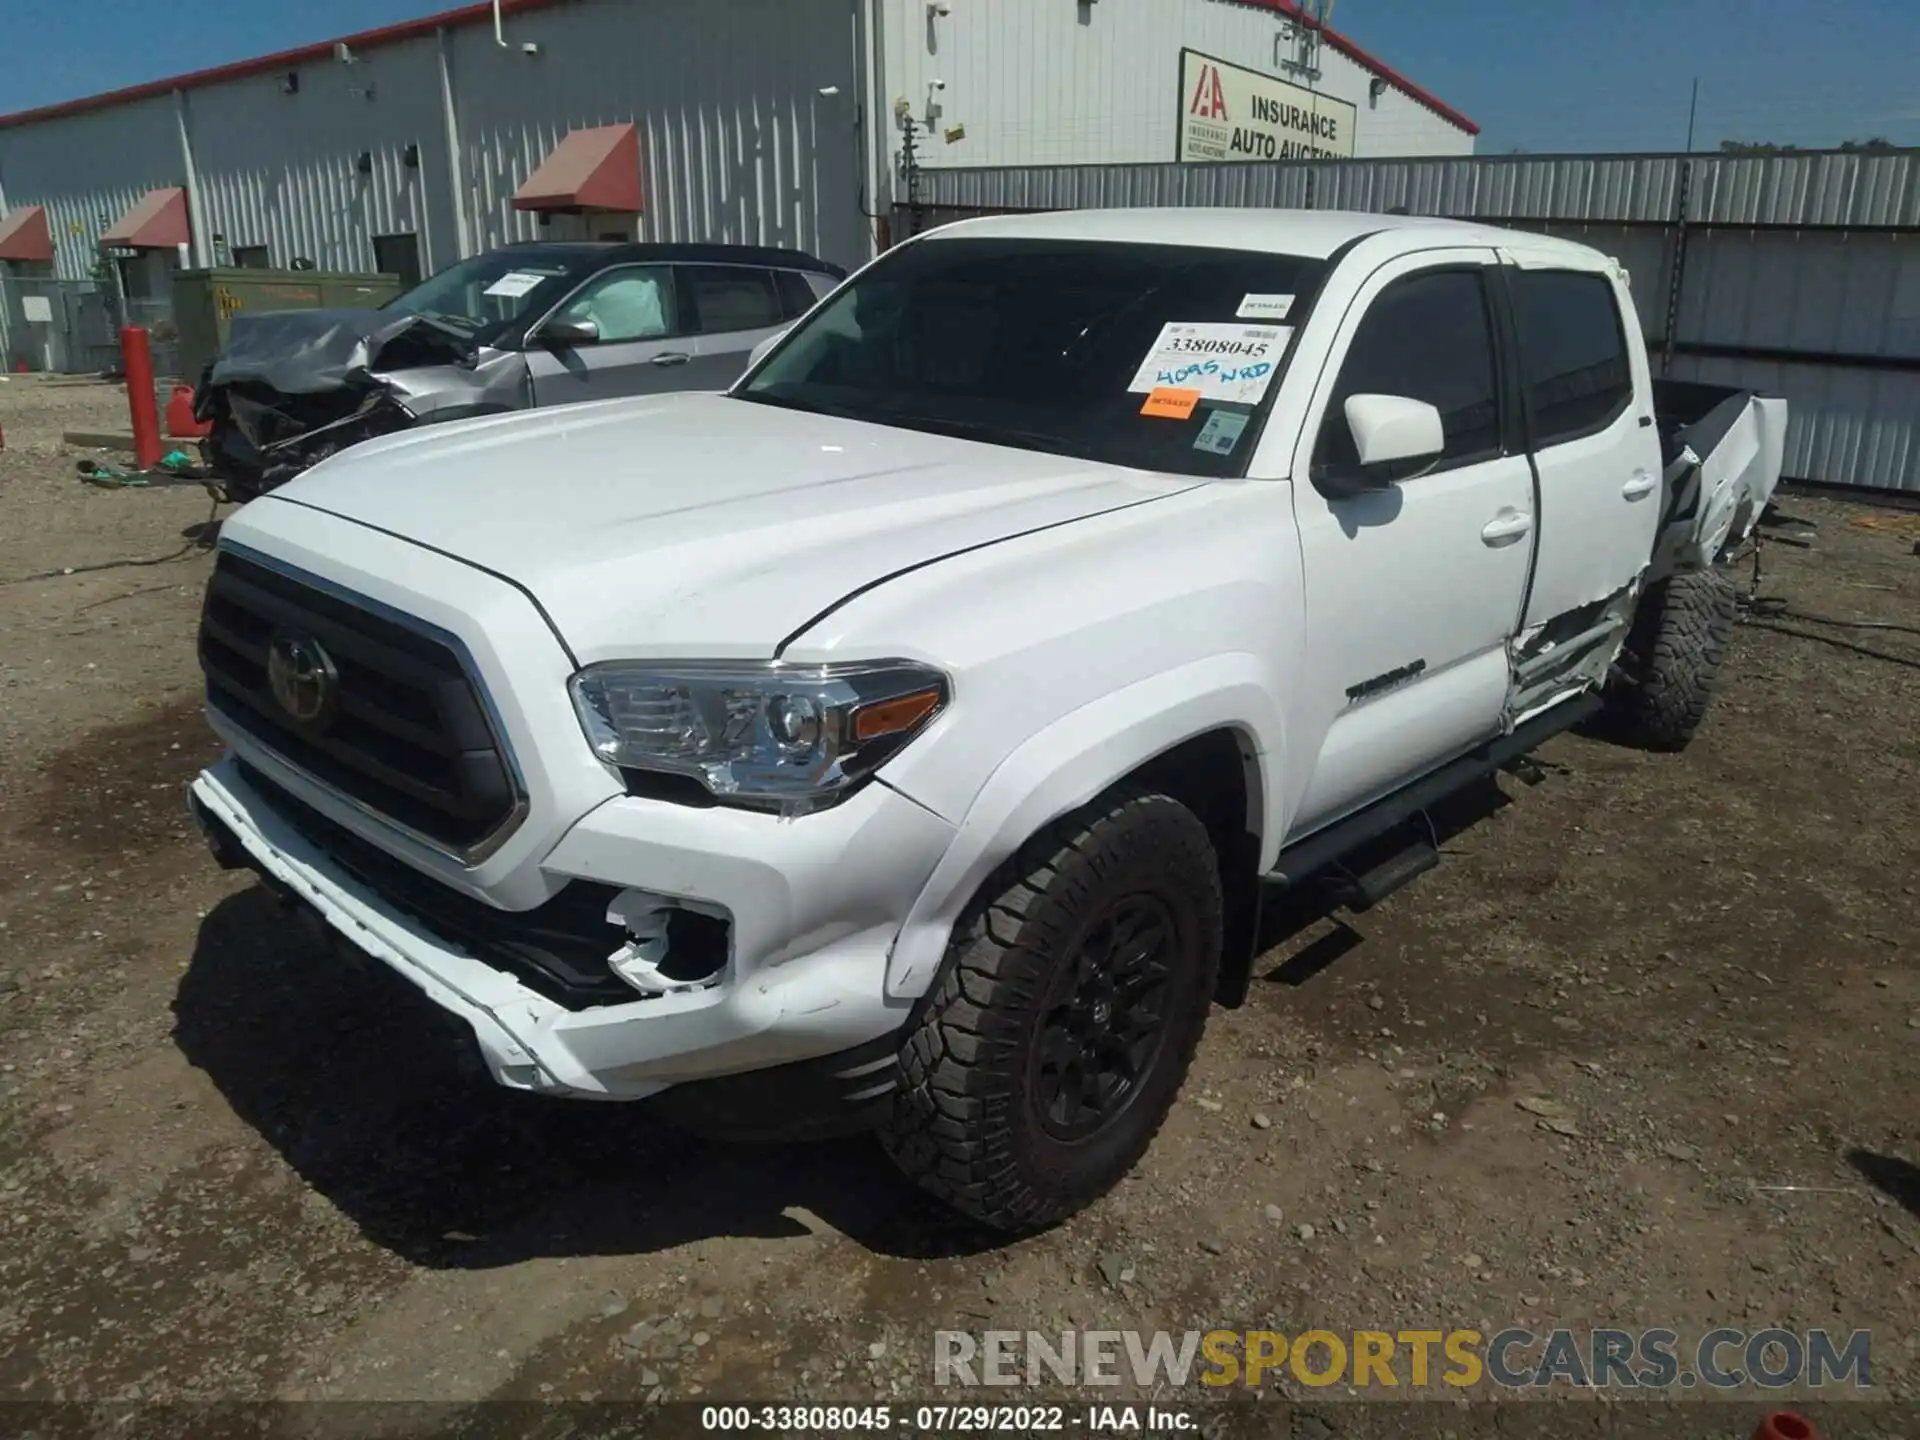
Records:
[[[572,129],[641,132],[645,238],[872,253],[856,127],[856,0],[574,0],[186,90],[200,227],[267,246],[273,265],[372,269],[372,238],[413,234],[422,267],[540,238],[511,198]],[[520,52],[536,42],[540,54]],[[461,154],[447,154],[442,44]],[[156,186],[186,184],[175,96],[0,129],[0,194],[44,204],[58,273],[81,278],[100,232]],[[413,163],[409,163],[409,148]],[[211,255],[209,255],[211,257]]]

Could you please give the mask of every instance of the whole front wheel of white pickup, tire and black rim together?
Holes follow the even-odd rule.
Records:
[[[1114,1188],[1187,1079],[1219,977],[1219,862],[1198,816],[1121,787],[981,887],[908,1023],[881,1142],[995,1229]]]

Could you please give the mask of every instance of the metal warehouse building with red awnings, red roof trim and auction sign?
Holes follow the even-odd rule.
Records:
[[[0,271],[430,273],[509,240],[845,265],[924,173],[1465,156],[1292,0],[499,0],[0,117]],[[182,252],[184,246],[184,252]]]

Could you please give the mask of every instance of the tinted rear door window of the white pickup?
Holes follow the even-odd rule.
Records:
[[[1620,305],[1605,275],[1509,271],[1521,376],[1546,449],[1605,430],[1634,397]]]

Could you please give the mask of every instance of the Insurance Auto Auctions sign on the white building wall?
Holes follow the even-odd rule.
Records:
[[[1359,111],[1225,60],[1181,50],[1179,159],[1350,159]]]

